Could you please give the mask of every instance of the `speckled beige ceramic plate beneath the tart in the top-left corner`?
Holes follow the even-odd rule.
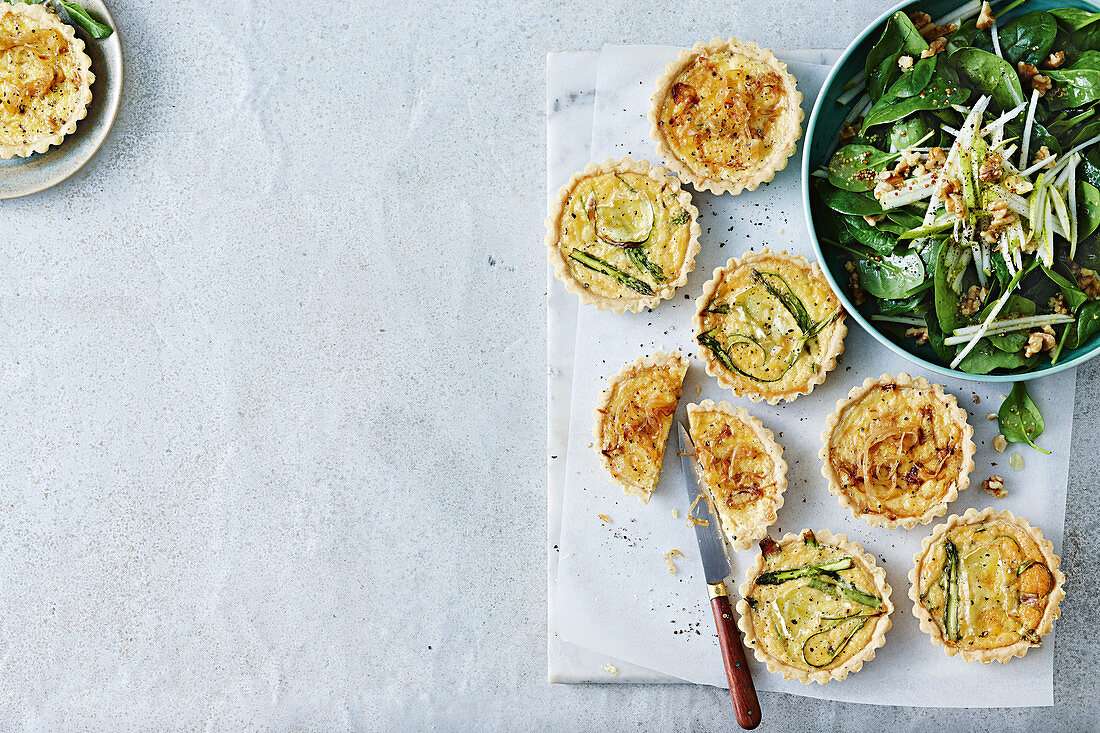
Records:
[[[75,174],[96,156],[118,117],[123,79],[119,26],[102,0],[81,0],[80,4],[114,30],[110,36],[97,41],[75,26],[77,37],[85,43],[85,53],[91,56],[91,72],[96,75],[88,116],[61,145],[30,157],[4,161],[0,165],[0,199],[37,194]]]

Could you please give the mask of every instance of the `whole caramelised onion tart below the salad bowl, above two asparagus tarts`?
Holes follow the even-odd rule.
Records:
[[[818,456],[840,506],[871,526],[910,529],[946,514],[970,485],[975,449],[955,395],[902,372],[868,378],[838,401]]]

